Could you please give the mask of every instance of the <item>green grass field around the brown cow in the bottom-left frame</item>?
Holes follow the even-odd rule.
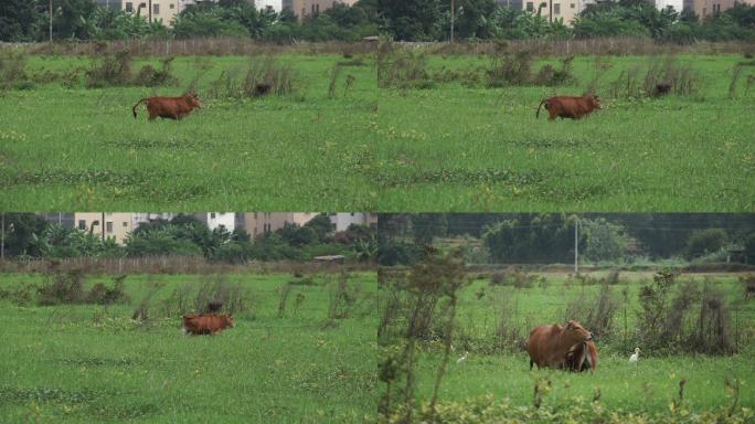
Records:
[[[148,284],[162,283],[152,301],[159,305],[205,278],[135,275],[126,292],[135,303]],[[251,307],[214,337],[182,335],[180,317],[139,326],[130,305],[0,300],[0,422],[352,423],[374,415],[374,274],[351,276],[351,317],[331,326],[323,322],[337,276],[294,286],[283,318],[278,290],[290,275],[226,278],[243,285]],[[42,282],[4,274],[0,288]]]

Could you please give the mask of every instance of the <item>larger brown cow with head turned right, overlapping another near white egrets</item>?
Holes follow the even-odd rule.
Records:
[[[565,327],[559,324],[535,327],[530,332],[528,351],[530,352],[530,369],[566,367],[566,356],[574,344],[593,340],[593,335],[585,330],[577,321],[568,321]]]

